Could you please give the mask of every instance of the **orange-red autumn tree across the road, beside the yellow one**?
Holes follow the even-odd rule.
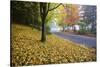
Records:
[[[79,5],[66,4],[63,6],[65,7],[65,11],[67,13],[67,16],[64,19],[64,26],[65,24],[72,26],[75,31],[75,27],[73,25],[77,24],[79,21]]]

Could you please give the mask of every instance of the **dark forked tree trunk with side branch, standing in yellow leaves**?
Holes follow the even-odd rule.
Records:
[[[40,2],[39,5],[40,5],[40,16],[41,16],[41,20],[42,20],[41,41],[45,42],[46,41],[46,22],[45,21],[46,21],[46,17],[48,15],[48,12],[56,9],[61,4],[58,4],[58,5],[54,6],[54,7],[50,7],[50,3]]]

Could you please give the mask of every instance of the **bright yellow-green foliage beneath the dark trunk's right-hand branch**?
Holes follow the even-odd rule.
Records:
[[[56,6],[56,5],[58,5],[58,4],[52,3],[51,7]],[[62,5],[60,5],[58,8],[50,11],[46,18],[46,22],[51,22],[52,20],[55,20],[58,24],[63,23],[63,19],[66,16],[64,9],[65,8]]]

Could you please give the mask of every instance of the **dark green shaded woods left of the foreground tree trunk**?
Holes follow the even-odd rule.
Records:
[[[40,25],[37,2],[11,1],[11,20],[26,25]]]

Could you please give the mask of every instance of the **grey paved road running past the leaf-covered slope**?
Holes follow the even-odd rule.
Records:
[[[87,37],[87,36],[69,34],[69,33],[63,33],[63,32],[55,32],[54,34],[61,38],[69,39],[75,43],[83,44],[87,47],[96,48],[96,38],[94,37]]]

